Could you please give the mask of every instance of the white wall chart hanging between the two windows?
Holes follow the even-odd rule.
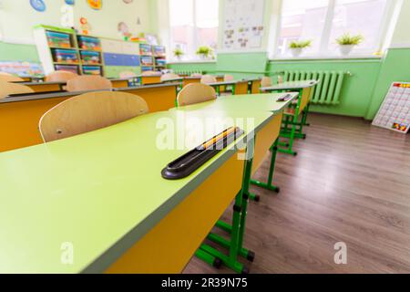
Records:
[[[223,49],[261,48],[265,0],[226,0]]]

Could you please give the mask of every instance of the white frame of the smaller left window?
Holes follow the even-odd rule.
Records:
[[[199,45],[200,45],[200,40],[198,38],[198,34],[196,33],[196,31],[198,29],[197,1],[200,1],[200,0],[192,0],[192,25],[193,25],[194,29],[192,29],[193,36],[191,36],[191,37],[192,37],[192,40],[193,40],[192,47],[194,47],[194,48],[199,47]],[[170,5],[170,0],[169,0],[168,5]],[[218,5],[218,16],[219,16],[219,11],[220,11],[220,4]],[[174,49],[173,46],[174,46],[175,42],[174,42],[174,39],[173,39],[170,12],[171,12],[171,9],[169,7],[169,11],[168,11],[168,16],[169,16],[169,48],[170,48],[170,50],[173,50]],[[218,17],[218,23],[219,23],[219,21],[220,21],[220,19]],[[219,26],[218,26],[218,28],[219,28]],[[219,36],[219,29],[218,29],[218,37],[217,37],[217,42],[218,43],[219,43],[219,37],[220,36]],[[187,58],[184,58],[182,60],[179,60],[176,57],[174,57],[172,52],[169,52],[169,54],[170,54],[169,55],[170,63],[192,63],[192,62],[195,62],[195,63],[202,63],[202,62],[203,63],[210,63],[210,62],[216,62],[216,57],[217,57],[217,53],[215,52],[215,60],[200,59],[200,57],[196,56],[195,49],[192,52],[188,52],[187,55],[186,55]]]

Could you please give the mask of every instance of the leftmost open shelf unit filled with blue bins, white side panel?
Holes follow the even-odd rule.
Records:
[[[36,26],[34,36],[46,75],[56,70],[80,75],[105,75],[98,37],[77,35],[74,29],[56,26]],[[92,40],[97,45],[84,46],[84,39]],[[86,61],[86,56],[91,56],[90,60]]]

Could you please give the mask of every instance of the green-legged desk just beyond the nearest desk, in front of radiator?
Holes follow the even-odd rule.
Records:
[[[289,139],[289,143],[281,142],[282,148],[279,150],[284,153],[297,155],[296,151],[292,150],[294,139],[306,139],[303,133],[303,127],[307,125],[307,116],[309,113],[310,101],[313,96],[313,89],[319,83],[317,80],[292,81],[273,85],[272,87],[261,88],[261,92],[286,92],[298,91],[299,100],[294,104],[294,109],[291,114],[285,115],[284,128],[282,130],[282,138]],[[299,117],[302,120],[299,121]],[[289,128],[290,127],[290,128]]]

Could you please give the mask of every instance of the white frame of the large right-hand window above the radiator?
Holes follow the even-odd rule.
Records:
[[[320,39],[320,46],[317,52],[314,52],[310,55],[305,55],[302,57],[291,57],[288,55],[282,55],[278,52],[278,47],[280,44],[281,32],[282,32],[282,14],[283,14],[283,1],[281,1],[281,11],[277,17],[276,21],[276,29],[274,39],[274,46],[272,46],[270,55],[271,59],[326,59],[326,58],[368,58],[368,57],[377,57],[374,56],[372,53],[368,52],[361,52],[356,51],[349,56],[340,56],[339,54],[334,54],[332,50],[329,50],[329,44],[332,36],[332,29],[333,29],[333,18],[335,13],[335,8],[337,4],[337,0],[328,0],[328,5],[326,9],[326,16],[323,25],[323,32]],[[395,11],[396,0],[386,1],[386,5],[384,8],[384,14],[382,17],[382,21],[380,24],[380,29],[378,30],[378,36],[376,37],[376,46],[374,47],[375,51],[380,51],[384,47],[385,37],[387,36],[388,26],[389,26],[389,19],[393,16]]]

